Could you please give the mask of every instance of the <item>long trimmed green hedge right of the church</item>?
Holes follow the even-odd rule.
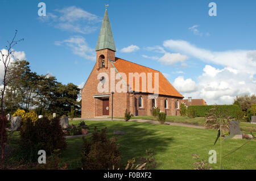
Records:
[[[205,106],[188,106],[188,112],[190,110],[195,110],[196,117],[204,117],[210,109],[214,107],[220,108],[221,111],[228,110],[228,114],[231,117],[236,117],[236,112],[240,111],[241,108],[237,105],[205,105]]]

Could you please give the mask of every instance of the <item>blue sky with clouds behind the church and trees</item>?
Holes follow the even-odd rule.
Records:
[[[46,3],[45,17],[39,2]],[[209,16],[210,2],[217,16]],[[254,0],[2,0],[0,49],[18,30],[24,41],[14,49],[32,71],[82,85],[95,64],[105,3],[117,57],[161,71],[185,97],[209,104],[255,94]]]

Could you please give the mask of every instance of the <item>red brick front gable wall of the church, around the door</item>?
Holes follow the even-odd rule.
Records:
[[[81,117],[95,117],[102,116],[102,100],[101,98],[93,98],[94,95],[105,95],[110,94],[109,97],[109,116],[112,116],[112,94],[110,93],[110,60],[115,60],[115,52],[113,50],[104,49],[97,51],[97,59],[103,54],[105,56],[105,68],[99,68],[98,61],[89,75],[88,80],[85,83],[84,88],[82,89],[82,109],[81,109]],[[97,86],[99,80],[97,79],[98,73],[107,73],[109,77],[109,92],[98,92]],[[117,74],[115,72],[115,74]],[[117,83],[118,81],[115,81]],[[114,92],[113,99],[113,116],[114,117],[123,117],[125,114],[125,110],[127,108],[127,93],[126,92]]]

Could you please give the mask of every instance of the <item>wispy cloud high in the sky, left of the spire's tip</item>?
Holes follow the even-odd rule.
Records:
[[[46,16],[40,16],[39,19],[60,30],[83,34],[96,31],[98,26],[94,24],[102,21],[99,16],[90,14],[76,6],[58,9],[55,12],[56,14],[47,12]]]

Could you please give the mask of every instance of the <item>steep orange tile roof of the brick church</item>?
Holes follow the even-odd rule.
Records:
[[[175,88],[174,86],[171,85],[169,81],[164,77],[164,75],[158,71],[154,70],[151,68],[147,68],[146,66],[135,64],[134,62],[130,62],[127,60],[123,60],[121,58],[115,57],[115,62],[113,62],[113,65],[115,68],[118,70],[119,73],[125,73],[127,77],[127,84],[129,84],[129,73],[146,73],[146,78],[147,78],[147,73],[152,73],[152,88],[154,89],[154,73],[159,73],[159,94],[160,95],[170,95],[170,96],[177,96],[180,98],[184,98],[183,95],[181,95]],[[142,92],[142,78],[140,78],[139,81],[139,91]],[[135,91],[135,78],[133,81],[133,91]],[[146,90],[147,93],[150,91],[147,90],[147,86],[143,87],[144,90]]]

